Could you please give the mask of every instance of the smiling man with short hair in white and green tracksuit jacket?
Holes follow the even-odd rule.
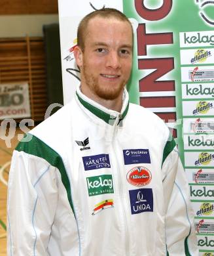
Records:
[[[14,151],[9,255],[198,255],[175,142],[128,102],[132,47],[132,26],[115,9],[80,22],[75,99]]]

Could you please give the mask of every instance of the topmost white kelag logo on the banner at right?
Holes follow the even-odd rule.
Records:
[[[204,33],[194,33],[194,35],[188,35],[188,33],[184,33],[184,43],[185,45],[195,45],[195,44],[205,44],[209,43],[210,45],[214,45],[214,35],[213,34],[207,34],[204,35]]]

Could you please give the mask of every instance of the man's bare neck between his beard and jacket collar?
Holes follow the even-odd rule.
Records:
[[[118,95],[118,97],[116,97],[113,100],[106,100],[105,98],[100,98],[98,95],[95,95],[94,93],[92,93],[92,91],[90,91],[90,89],[88,89],[88,87],[84,87],[82,85],[80,86],[80,91],[85,96],[87,96],[91,100],[94,100],[101,106],[104,106],[105,108],[107,108],[109,110],[115,110],[116,112],[119,112],[119,113],[121,112],[123,91],[121,91],[120,95]]]

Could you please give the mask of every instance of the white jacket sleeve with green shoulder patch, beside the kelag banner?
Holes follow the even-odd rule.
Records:
[[[167,255],[198,256],[188,182],[173,139],[164,148],[162,175]]]

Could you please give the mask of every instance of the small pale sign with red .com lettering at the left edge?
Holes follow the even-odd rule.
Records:
[[[0,120],[30,116],[28,83],[0,84]]]

